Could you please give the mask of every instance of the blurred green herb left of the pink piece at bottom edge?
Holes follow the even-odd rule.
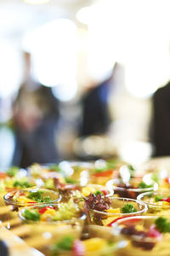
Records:
[[[71,251],[74,238],[72,236],[65,236],[60,241],[56,242],[51,247],[53,255],[58,255],[59,251]]]

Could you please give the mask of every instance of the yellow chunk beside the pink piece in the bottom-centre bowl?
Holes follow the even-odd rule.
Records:
[[[105,239],[102,238],[91,238],[82,242],[87,252],[98,251],[107,245]]]

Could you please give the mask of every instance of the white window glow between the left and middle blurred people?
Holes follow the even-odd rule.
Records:
[[[55,86],[59,99],[71,99],[77,93],[77,26],[71,20],[49,22],[24,39],[33,55],[37,79]],[[59,84],[62,84],[59,85]],[[65,95],[65,96],[64,96]]]

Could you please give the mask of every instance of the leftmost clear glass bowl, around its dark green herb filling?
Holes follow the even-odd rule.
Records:
[[[12,191],[9,192],[8,194],[3,196],[3,200],[5,201],[5,203],[7,205],[14,205],[16,207],[28,207],[28,206],[33,206],[33,205],[42,205],[42,202],[31,202],[28,203],[20,203],[18,201],[13,201],[12,198],[16,193],[22,193],[25,195],[25,193],[27,194],[28,192],[37,192],[40,191],[43,193],[44,196],[49,196],[50,198],[52,198],[52,201],[48,201],[48,202],[44,202],[44,204],[51,204],[51,203],[56,203],[57,201],[60,201],[61,197],[59,196],[59,193],[53,191],[53,190],[49,190],[49,189],[22,189],[22,190],[17,190],[17,191]]]

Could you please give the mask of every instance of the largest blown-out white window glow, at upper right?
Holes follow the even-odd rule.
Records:
[[[91,76],[101,79],[117,61],[125,67],[125,85],[133,96],[148,97],[166,84],[169,8],[168,0],[101,0],[79,10],[77,19],[88,24]]]

